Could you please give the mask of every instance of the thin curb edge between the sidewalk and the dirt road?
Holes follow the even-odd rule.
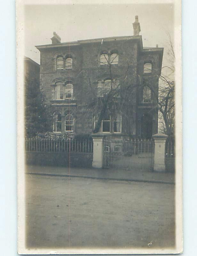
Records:
[[[137,180],[137,179],[116,179],[116,178],[103,178],[103,177],[92,177],[74,174],[56,174],[56,173],[45,173],[45,172],[26,172],[26,174],[42,175],[42,176],[56,176],[56,177],[74,177],[74,178],[86,178],[86,179],[97,179],[97,180],[121,180],[121,181],[136,181],[136,182],[150,182],[150,183],[163,183],[163,184],[175,184],[172,181],[163,180]]]

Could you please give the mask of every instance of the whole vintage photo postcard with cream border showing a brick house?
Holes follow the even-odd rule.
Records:
[[[17,0],[19,254],[183,251],[181,1]]]

